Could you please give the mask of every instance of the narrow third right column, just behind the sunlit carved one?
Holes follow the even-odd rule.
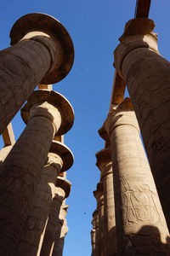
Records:
[[[105,255],[112,256],[116,255],[116,220],[111,148],[99,151],[96,159],[104,187]]]

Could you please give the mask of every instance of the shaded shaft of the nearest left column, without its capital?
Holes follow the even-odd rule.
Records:
[[[40,36],[0,52],[0,133],[56,61],[55,55],[53,40]]]

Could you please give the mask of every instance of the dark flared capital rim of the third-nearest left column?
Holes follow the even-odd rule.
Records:
[[[49,149],[50,153],[58,154],[63,160],[63,166],[60,172],[65,172],[71,168],[74,162],[74,156],[71,152],[71,149],[65,146],[65,144],[53,141],[51,148]]]

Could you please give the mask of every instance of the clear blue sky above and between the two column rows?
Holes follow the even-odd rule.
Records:
[[[152,2],[150,19],[156,21],[159,50],[169,59],[170,2]],[[99,182],[94,154],[104,148],[98,130],[105,121],[111,99],[113,50],[125,22],[133,18],[135,3],[135,0],[1,0],[0,49],[9,46],[8,34],[14,21],[32,12],[42,12],[60,20],[70,32],[75,47],[71,73],[54,84],[54,90],[63,94],[75,111],[75,124],[65,135],[65,144],[75,155],[75,163],[67,172],[72,189],[67,200],[69,232],[65,238],[64,256],[91,253],[91,219],[96,207],[93,190]],[[20,113],[12,123],[17,138],[25,127]]]

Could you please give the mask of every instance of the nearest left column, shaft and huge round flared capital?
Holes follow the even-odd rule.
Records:
[[[74,49],[58,20],[30,14],[14,23],[14,45],[0,52],[0,134],[40,82],[54,84],[69,73]]]

